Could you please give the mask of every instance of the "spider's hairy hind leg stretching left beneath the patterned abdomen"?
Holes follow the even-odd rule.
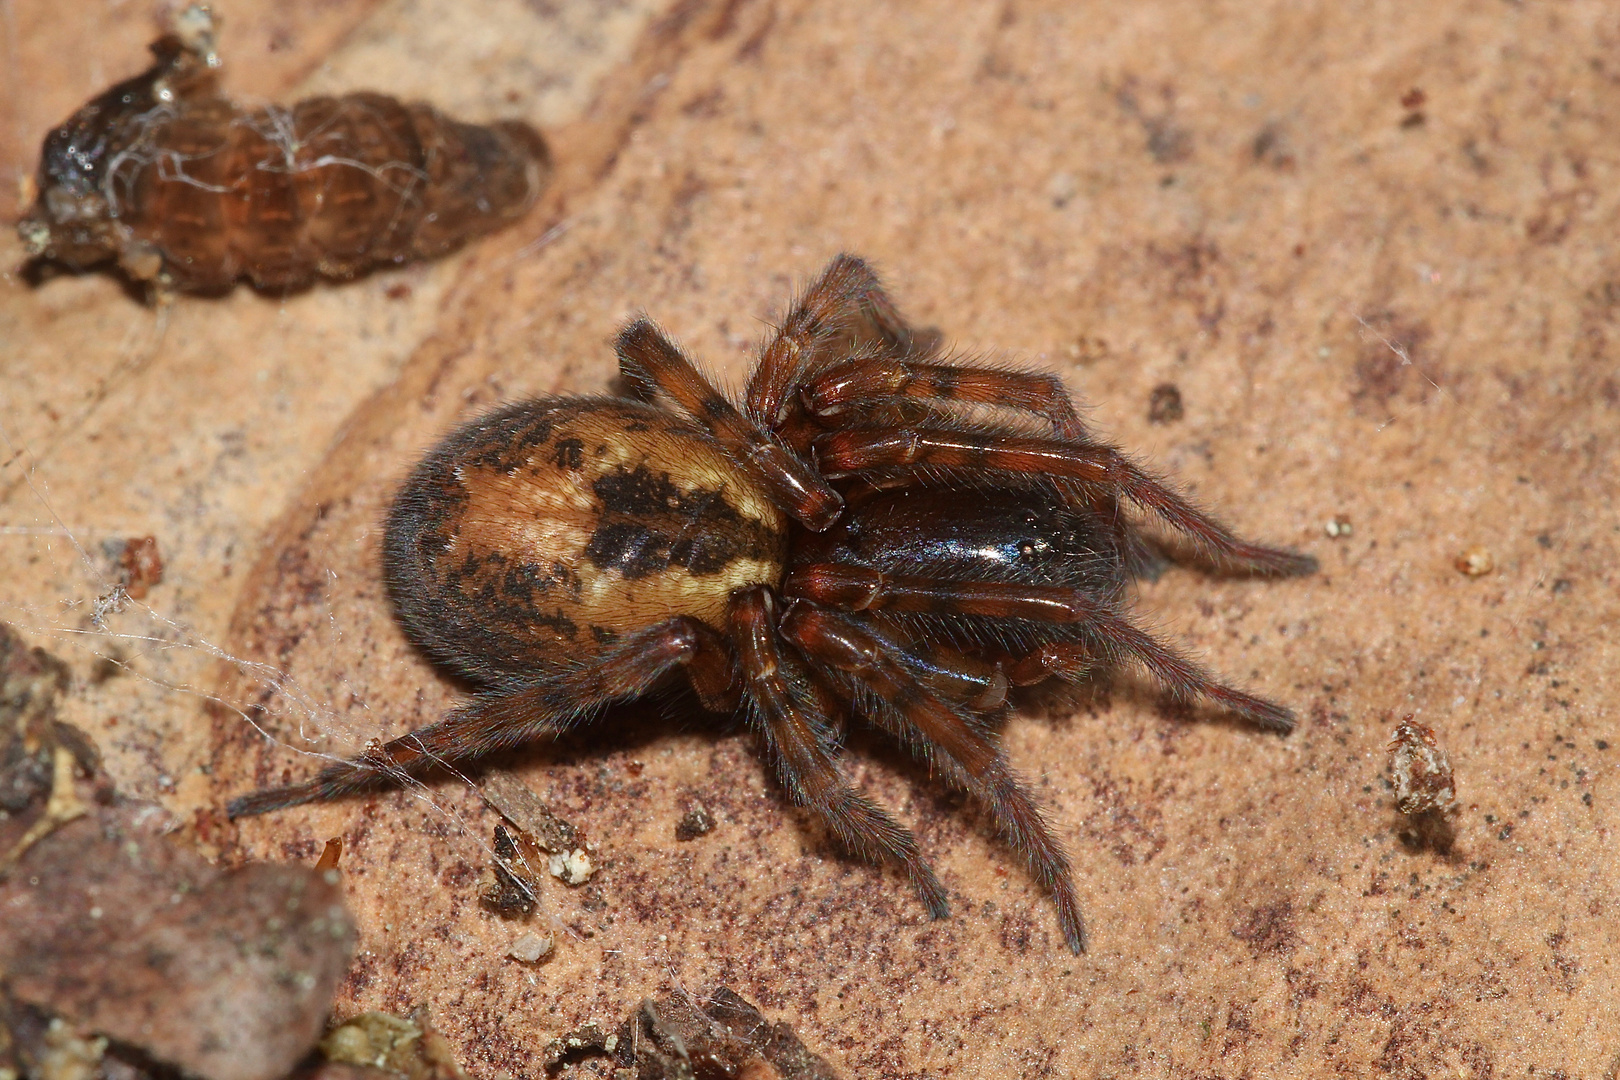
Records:
[[[669,672],[685,667],[706,708],[731,709],[740,685],[724,640],[711,628],[677,615],[627,635],[593,664],[533,683],[491,691],[437,724],[339,761],[314,777],[287,787],[251,792],[232,800],[230,818],[327,801],[403,782],[436,764],[510,750],[539,738],[556,738],[611,701],[638,698]]]

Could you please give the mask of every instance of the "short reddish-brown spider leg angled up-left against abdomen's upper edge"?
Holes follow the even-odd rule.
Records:
[[[765,434],[710,385],[680,347],[650,319],[637,319],[614,343],[619,372],[640,389],[667,393],[726,449],[753,463],[776,504],[812,533],[828,529],[844,510],[844,499],[787,447]]]

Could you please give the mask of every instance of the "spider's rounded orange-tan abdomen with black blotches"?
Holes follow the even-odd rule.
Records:
[[[465,674],[535,678],[629,631],[726,625],[776,585],[787,523],[710,436],[620,398],[518,402],[471,421],[405,483],[384,570],[411,636]]]

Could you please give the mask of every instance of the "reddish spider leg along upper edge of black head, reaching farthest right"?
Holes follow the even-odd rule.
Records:
[[[1315,559],[1239,539],[1225,525],[1142,471],[1113,447],[998,432],[930,427],[846,427],[816,439],[828,478],[885,468],[966,468],[1029,473],[1119,492],[1223,563],[1272,576],[1312,573]]]

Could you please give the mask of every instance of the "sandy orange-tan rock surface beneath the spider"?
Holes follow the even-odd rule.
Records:
[[[156,8],[6,11],[15,178],[143,66]],[[559,160],[510,232],[348,285],[154,311],[107,275],[0,282],[0,619],[70,661],[63,716],[207,852],[313,861],[343,837],[340,1014],[426,1004],[480,1077],[539,1075],[559,1033],[718,984],[852,1077],[1614,1075],[1612,5],[220,11],[243,96],[431,96],[544,125]],[[403,640],[376,563],[437,434],[601,390],[642,309],[737,385],[763,319],[844,249],[961,353],[1059,372],[1239,531],[1322,560],[1140,589],[1163,633],[1293,704],[1293,737],[1176,714],[1129,675],[1009,725],[1090,954],[876,737],[849,776],[915,826],[948,921],[841,858],[747,735],[656,708],[505,761],[593,865],[546,878],[530,923],[478,900],[499,818],[465,784],[224,821],[313,771],[300,751],[465,695]],[[147,534],[162,581],[99,606]],[[1460,568],[1476,547],[1489,572]],[[1455,767],[1445,844],[1393,808],[1406,714]],[[695,801],[713,827],[677,840]],[[544,962],[510,955],[525,933],[554,938]]]

